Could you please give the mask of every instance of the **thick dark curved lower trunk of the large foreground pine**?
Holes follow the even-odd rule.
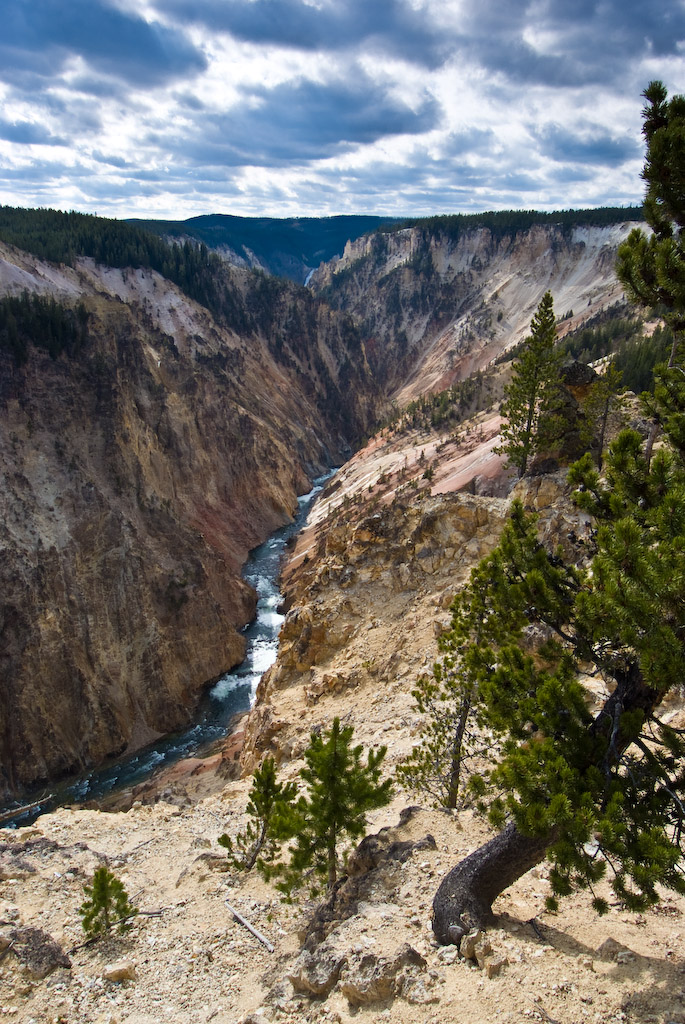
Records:
[[[443,945],[459,944],[463,935],[493,921],[495,898],[545,859],[556,839],[523,836],[509,824],[474,850],[444,877],[433,900],[433,932]]]

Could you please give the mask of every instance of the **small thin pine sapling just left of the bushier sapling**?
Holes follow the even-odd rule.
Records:
[[[253,820],[238,834],[236,840],[225,833],[218,839],[219,845],[228,851],[228,862],[233,867],[249,871],[257,864],[263,869],[273,860],[280,846],[273,824],[287,805],[293,803],[296,793],[294,782],[276,781],[273,758],[264,758],[261,767],[254,773],[248,800],[247,813]]]

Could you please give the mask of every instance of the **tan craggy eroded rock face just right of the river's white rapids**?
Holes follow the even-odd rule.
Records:
[[[582,561],[593,541],[569,495],[564,470],[526,477],[512,492],[538,514],[545,543]],[[391,700],[420,649],[430,671],[452,601],[499,544],[510,505],[463,493],[424,495],[366,515],[336,510],[318,522],[308,558],[287,570],[289,611],[279,656],[248,716],[244,775],[266,754],[276,762],[299,756],[308,741],[305,720],[330,721],[345,707],[362,715],[376,697]]]

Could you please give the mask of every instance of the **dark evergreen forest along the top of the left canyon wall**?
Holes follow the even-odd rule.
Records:
[[[291,367],[296,365],[294,359],[310,362],[330,394],[335,391],[314,344],[322,327],[320,300],[291,281],[251,270],[241,290],[223,260],[204,244],[169,244],[141,227],[90,214],[0,207],[0,239],[53,263],[73,265],[85,256],[106,266],[156,270],[209,309],[220,324],[243,336],[262,334],[279,361]],[[54,300],[48,305],[28,297],[4,304],[0,347],[9,348],[17,362],[26,358],[30,341],[56,355],[62,350],[74,354],[85,340],[85,335],[80,336],[77,346],[76,336],[68,339],[65,325],[74,318],[69,306]],[[80,325],[83,315],[79,316],[75,323]],[[44,325],[50,318],[55,326],[46,334]],[[327,335],[338,334],[342,343],[358,350],[361,335],[351,317],[338,321],[336,327],[327,319]],[[349,375],[350,369],[343,372]]]

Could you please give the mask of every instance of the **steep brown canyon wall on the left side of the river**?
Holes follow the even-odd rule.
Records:
[[[374,416],[344,317],[230,286],[243,335],[153,271],[0,251],[1,292],[79,299],[89,335],[0,351],[3,795],[187,721],[243,656],[248,550]]]

